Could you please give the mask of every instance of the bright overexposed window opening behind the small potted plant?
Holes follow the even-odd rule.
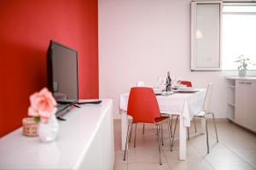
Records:
[[[234,61],[244,54],[256,63],[256,6],[248,3],[224,3],[222,69],[237,70]],[[248,65],[248,70],[256,70]]]

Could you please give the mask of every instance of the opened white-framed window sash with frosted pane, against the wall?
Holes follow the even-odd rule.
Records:
[[[221,4],[191,3],[191,70],[220,70]]]

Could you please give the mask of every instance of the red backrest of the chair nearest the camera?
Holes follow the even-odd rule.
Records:
[[[154,123],[155,117],[160,117],[160,109],[152,88],[131,88],[127,114],[132,116],[132,122]]]

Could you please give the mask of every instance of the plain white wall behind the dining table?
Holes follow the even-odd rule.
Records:
[[[158,77],[189,80],[196,88],[215,84],[212,111],[225,117],[224,76],[237,71],[190,71],[190,0],[99,0],[100,98],[112,98],[136,82]]]

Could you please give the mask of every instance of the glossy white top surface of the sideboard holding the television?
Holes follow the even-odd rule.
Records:
[[[22,135],[22,128],[0,139],[0,169],[72,169],[79,165],[102,122],[112,107],[111,99],[100,105],[80,105],[59,121],[55,142],[42,143],[38,137]]]

